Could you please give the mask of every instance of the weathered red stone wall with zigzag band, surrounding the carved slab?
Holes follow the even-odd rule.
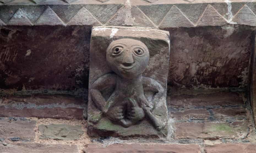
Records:
[[[0,0],[0,152],[255,152],[255,13],[254,0]],[[170,33],[167,139],[88,136],[100,25]]]

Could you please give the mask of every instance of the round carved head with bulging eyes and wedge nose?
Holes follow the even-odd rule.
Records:
[[[107,63],[124,78],[132,79],[142,74],[149,61],[148,47],[134,39],[113,41],[107,49]]]

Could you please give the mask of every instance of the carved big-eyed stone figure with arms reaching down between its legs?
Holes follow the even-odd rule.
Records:
[[[149,61],[148,47],[138,40],[119,39],[108,46],[106,59],[114,73],[101,76],[91,86],[91,98],[97,108],[123,127],[136,124],[146,115],[155,128],[162,129],[163,124],[154,117],[151,109],[164,94],[164,89],[156,80],[142,76]],[[107,82],[111,83],[109,86],[115,86],[115,90],[105,101],[99,90]],[[144,88],[157,93],[152,100],[153,106],[146,99]]]

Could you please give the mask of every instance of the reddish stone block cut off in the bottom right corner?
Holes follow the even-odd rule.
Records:
[[[206,153],[254,153],[256,144],[254,143],[229,143],[218,144],[205,147]]]

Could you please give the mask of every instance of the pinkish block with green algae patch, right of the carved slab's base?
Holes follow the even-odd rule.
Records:
[[[247,125],[232,126],[225,123],[175,123],[175,138],[244,138],[247,136]]]

